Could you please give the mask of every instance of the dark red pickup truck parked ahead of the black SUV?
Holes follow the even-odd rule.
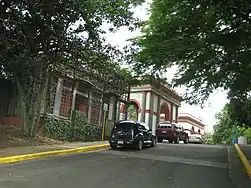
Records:
[[[179,143],[184,141],[185,144],[188,143],[188,134],[184,131],[183,127],[176,124],[171,124],[170,122],[162,122],[157,126],[156,136],[158,142],[163,142],[163,140],[168,140],[169,143]]]

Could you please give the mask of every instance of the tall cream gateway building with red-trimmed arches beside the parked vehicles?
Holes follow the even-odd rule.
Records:
[[[130,104],[137,110],[138,121],[147,123],[153,131],[161,121],[178,122],[178,109],[182,98],[169,86],[157,80],[132,87]],[[119,120],[126,119],[126,105],[120,105]]]

